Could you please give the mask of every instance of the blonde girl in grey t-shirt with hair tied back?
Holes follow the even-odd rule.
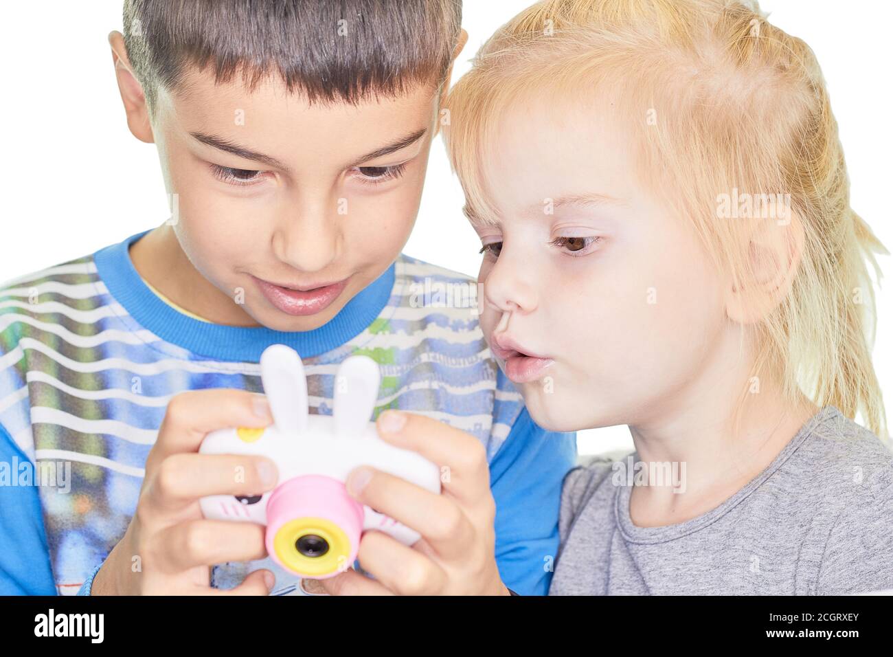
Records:
[[[755,2],[547,0],[447,107],[491,349],[539,425],[636,448],[565,478],[550,594],[893,588],[883,248],[810,48]]]

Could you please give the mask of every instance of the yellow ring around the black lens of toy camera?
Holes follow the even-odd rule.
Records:
[[[317,535],[329,543],[329,552],[307,557],[297,551],[297,540]],[[288,569],[308,577],[320,577],[350,568],[350,540],[341,527],[326,518],[295,518],[280,527],[273,538],[273,550]]]

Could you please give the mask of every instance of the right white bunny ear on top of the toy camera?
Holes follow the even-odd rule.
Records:
[[[338,367],[335,377],[335,433],[350,436],[363,432],[379,398],[379,366],[368,356],[351,356]]]

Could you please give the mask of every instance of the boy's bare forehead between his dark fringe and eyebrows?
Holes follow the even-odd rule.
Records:
[[[165,112],[179,131],[250,142],[263,152],[288,153],[299,142],[305,154],[343,150],[366,153],[433,124],[438,100],[434,84],[419,85],[400,97],[309,103],[289,92],[278,75],[248,88],[240,75],[215,83],[213,72],[185,73],[175,92],[160,90]],[[321,155],[321,153],[319,154]]]

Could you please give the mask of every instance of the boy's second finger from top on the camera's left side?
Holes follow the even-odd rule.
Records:
[[[182,510],[206,495],[258,495],[279,478],[276,464],[250,454],[173,454],[147,482],[154,510]]]

